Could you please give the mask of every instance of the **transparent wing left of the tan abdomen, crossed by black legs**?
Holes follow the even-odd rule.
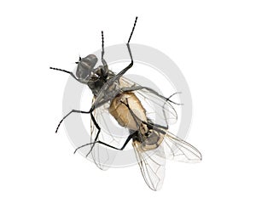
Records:
[[[90,120],[90,143],[93,143],[97,137],[97,141],[102,141],[106,144],[114,147],[120,147],[124,142],[124,139],[128,137],[129,131],[120,127],[118,122],[108,112],[108,103],[96,108],[93,111],[93,116],[101,132],[98,133],[98,129],[92,120]],[[115,155],[118,150],[113,150],[103,144],[91,144],[91,158],[95,162],[96,166],[102,170],[107,170],[113,164]]]

